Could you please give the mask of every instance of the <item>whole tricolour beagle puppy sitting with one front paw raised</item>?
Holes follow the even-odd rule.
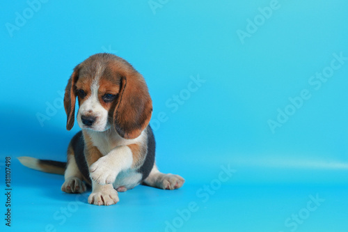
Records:
[[[143,184],[164,190],[182,187],[184,179],[159,172],[155,164],[155,137],[149,125],[152,100],[143,76],[124,59],[95,54],[74,68],[65,88],[64,107],[81,131],[68,146],[68,162],[19,157],[26,167],[64,174],[61,190],[82,193],[92,186],[88,203],[109,206],[118,192]]]

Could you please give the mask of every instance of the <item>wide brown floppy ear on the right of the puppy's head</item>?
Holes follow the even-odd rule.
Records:
[[[125,139],[135,139],[148,126],[152,100],[139,73],[121,77],[118,102],[113,111],[113,126]]]

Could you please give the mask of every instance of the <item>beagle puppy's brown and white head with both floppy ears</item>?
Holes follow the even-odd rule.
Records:
[[[100,132],[114,127],[125,139],[139,137],[152,114],[145,80],[112,54],[95,54],[74,68],[64,96],[67,130],[74,125],[76,98],[79,127]]]

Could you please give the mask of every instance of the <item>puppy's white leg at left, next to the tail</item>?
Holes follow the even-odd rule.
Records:
[[[68,148],[68,163],[64,173],[64,183],[61,187],[63,192],[68,193],[82,193],[86,192],[86,185],[82,182],[83,177],[79,168],[77,167],[74,157],[74,150],[71,145]]]

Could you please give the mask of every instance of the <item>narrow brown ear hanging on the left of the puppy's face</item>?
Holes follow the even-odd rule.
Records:
[[[64,95],[64,108],[67,116],[66,129],[71,130],[74,126],[74,118],[75,118],[75,102],[76,102],[76,93],[75,93],[75,84],[77,82],[77,78],[79,77],[79,65],[74,68],[74,72],[70,79],[68,80],[68,84],[65,87],[65,95]]]

